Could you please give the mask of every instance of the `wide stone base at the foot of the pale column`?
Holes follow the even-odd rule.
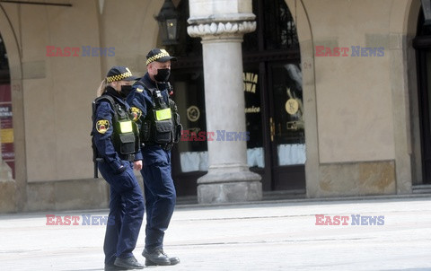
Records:
[[[262,199],[260,176],[251,171],[226,172],[198,179],[198,203],[216,204]]]

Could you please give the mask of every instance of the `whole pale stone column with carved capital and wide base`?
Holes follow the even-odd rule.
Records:
[[[261,178],[247,166],[242,81],[242,35],[256,29],[251,0],[190,0],[189,8],[189,35],[202,38],[207,132],[215,133],[198,202],[260,200]]]

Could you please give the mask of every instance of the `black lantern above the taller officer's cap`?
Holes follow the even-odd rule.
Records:
[[[165,0],[160,13],[154,16],[155,20],[159,22],[163,45],[178,44],[179,17],[180,15],[175,9],[172,0]]]

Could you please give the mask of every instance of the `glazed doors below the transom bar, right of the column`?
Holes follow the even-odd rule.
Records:
[[[301,78],[297,59],[244,67],[247,160],[264,191],[305,189]]]

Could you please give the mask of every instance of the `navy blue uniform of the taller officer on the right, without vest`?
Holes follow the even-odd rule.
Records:
[[[148,73],[141,82],[149,89],[156,88]],[[165,83],[159,83],[158,89],[166,104],[168,90]],[[154,109],[155,103],[140,83],[135,83],[127,98],[132,111],[136,113],[136,123],[141,124],[146,115]],[[172,180],[171,150],[158,144],[145,144],[141,149],[143,168],[141,170],[145,187],[146,227],[145,249],[163,249],[164,231],[171,222],[176,202],[176,192]]]

